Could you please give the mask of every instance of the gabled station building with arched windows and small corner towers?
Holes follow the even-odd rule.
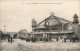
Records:
[[[60,18],[52,13],[48,18],[45,18],[40,23],[37,23],[35,19],[32,20],[32,32],[30,33],[31,38],[37,38],[37,40],[48,41],[52,39],[70,38],[73,35],[80,37],[80,25],[77,14],[73,16],[73,22],[68,21],[64,18]]]

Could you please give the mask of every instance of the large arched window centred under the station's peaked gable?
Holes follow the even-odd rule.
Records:
[[[56,18],[51,18],[47,20],[46,25],[51,30],[61,30],[62,29],[61,21]]]

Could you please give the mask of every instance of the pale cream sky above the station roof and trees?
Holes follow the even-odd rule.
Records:
[[[50,16],[73,21],[76,13],[80,22],[80,0],[0,0],[0,29],[17,32],[21,29],[32,31],[31,21],[37,24]]]

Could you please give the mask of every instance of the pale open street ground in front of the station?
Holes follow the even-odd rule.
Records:
[[[26,42],[14,39],[13,43],[1,42],[2,51],[80,51],[80,42]]]

